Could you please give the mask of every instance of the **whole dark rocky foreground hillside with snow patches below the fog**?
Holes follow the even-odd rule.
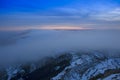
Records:
[[[6,77],[0,80],[120,80],[120,56],[67,53],[43,62],[6,68]]]

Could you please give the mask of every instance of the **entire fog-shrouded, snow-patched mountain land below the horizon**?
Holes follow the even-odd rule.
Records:
[[[120,80],[120,31],[2,34],[0,80]]]

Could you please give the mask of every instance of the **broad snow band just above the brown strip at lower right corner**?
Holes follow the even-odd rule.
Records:
[[[96,76],[98,74],[104,74],[106,70],[120,68],[120,58],[118,59],[108,59],[95,67],[88,69],[82,76],[83,80],[89,79],[91,76]]]

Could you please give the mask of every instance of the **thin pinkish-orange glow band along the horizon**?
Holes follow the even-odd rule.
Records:
[[[35,27],[9,27],[0,28],[0,31],[21,31],[21,30],[86,30],[91,28],[77,27],[77,26],[35,26]]]

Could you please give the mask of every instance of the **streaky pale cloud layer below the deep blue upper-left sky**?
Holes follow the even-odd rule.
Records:
[[[119,28],[120,8],[109,1],[76,1],[38,12],[18,12],[0,15],[0,28],[82,26],[89,28]],[[104,3],[104,4],[103,4]]]

